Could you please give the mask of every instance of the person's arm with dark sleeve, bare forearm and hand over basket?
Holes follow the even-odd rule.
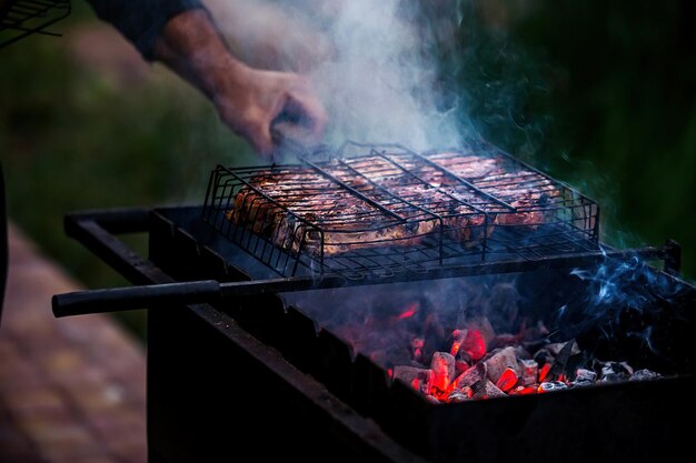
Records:
[[[272,153],[270,127],[280,114],[301,122],[312,138],[320,137],[326,114],[309,82],[298,74],[252,69],[238,60],[198,0],[142,0],[150,23],[136,19],[128,2],[89,1],[145,58],[162,62],[205,93],[222,122],[260,154]]]

